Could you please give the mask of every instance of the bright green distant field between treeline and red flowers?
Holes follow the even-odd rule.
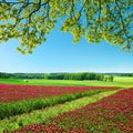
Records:
[[[72,81],[72,80],[23,80],[18,79],[0,79],[0,83],[4,84],[34,84],[34,85],[69,85],[69,86],[133,86],[133,78],[114,76],[113,82],[104,81]]]

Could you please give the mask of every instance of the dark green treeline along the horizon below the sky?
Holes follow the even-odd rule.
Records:
[[[0,79],[47,79],[47,80],[98,80],[113,81],[113,75],[133,76],[133,73],[6,73],[0,72]]]

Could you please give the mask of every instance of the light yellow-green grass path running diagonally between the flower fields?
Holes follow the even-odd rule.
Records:
[[[91,96],[81,98],[71,102],[66,102],[64,104],[58,104],[55,106],[49,106],[40,111],[32,111],[31,113],[25,113],[18,116],[11,116],[9,119],[4,119],[0,121],[0,133],[3,130],[13,131],[19,129],[20,126],[34,124],[34,123],[47,123],[50,117],[60,115],[64,112],[72,111],[95,102],[104,96],[111,95],[119,90],[110,90],[106,92],[101,92],[99,94],[94,94]]]

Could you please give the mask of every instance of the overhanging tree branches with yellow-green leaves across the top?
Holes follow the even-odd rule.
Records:
[[[20,39],[17,50],[31,53],[60,19],[73,42],[84,37],[131,51],[133,0],[0,0],[0,41]]]

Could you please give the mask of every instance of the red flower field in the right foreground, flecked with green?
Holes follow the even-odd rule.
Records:
[[[53,129],[49,124],[54,125]],[[45,133],[133,133],[133,89],[121,90],[95,103],[63,113],[45,125],[29,125],[13,133],[39,133],[41,130]]]

